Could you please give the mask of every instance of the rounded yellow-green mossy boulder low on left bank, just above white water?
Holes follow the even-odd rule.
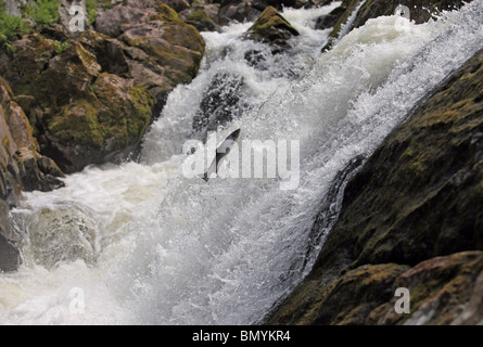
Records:
[[[49,152],[66,172],[126,158],[151,121],[153,98],[134,79],[102,73],[91,89],[90,100],[73,101],[46,124]]]

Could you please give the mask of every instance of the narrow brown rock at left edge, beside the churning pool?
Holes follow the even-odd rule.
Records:
[[[0,271],[14,271],[20,253],[11,242],[9,210],[22,191],[50,191],[63,185],[55,163],[38,153],[39,146],[9,83],[0,77]]]

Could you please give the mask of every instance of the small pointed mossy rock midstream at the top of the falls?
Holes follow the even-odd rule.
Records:
[[[298,35],[298,31],[275,8],[268,7],[246,31],[245,38],[268,43],[276,51],[280,51],[290,49],[289,39]]]

